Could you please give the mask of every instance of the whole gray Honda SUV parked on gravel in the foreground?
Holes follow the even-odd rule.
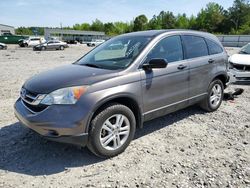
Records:
[[[209,33],[120,35],[72,65],[26,81],[15,114],[48,139],[112,157],[126,149],[145,121],[197,103],[217,110],[228,81],[227,58]]]

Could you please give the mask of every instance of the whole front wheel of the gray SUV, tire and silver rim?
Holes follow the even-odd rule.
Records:
[[[119,123],[120,120],[122,123]],[[128,107],[109,104],[91,121],[87,146],[98,157],[114,157],[128,147],[135,129],[135,116]]]

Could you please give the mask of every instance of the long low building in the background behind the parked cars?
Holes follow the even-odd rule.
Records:
[[[104,32],[97,31],[79,31],[79,30],[65,30],[60,28],[45,28],[44,37],[46,40],[58,38],[63,41],[80,43],[89,42],[95,39],[106,39]]]

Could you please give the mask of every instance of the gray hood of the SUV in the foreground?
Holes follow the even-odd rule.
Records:
[[[91,85],[115,76],[118,72],[114,70],[72,64],[35,75],[23,87],[37,94],[48,94],[60,88]]]

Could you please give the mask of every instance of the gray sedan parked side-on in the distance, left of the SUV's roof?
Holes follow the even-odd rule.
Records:
[[[62,42],[59,40],[51,40],[34,46],[33,50],[64,50],[64,48],[68,47],[69,46],[66,42]]]

